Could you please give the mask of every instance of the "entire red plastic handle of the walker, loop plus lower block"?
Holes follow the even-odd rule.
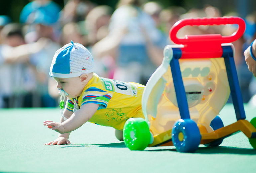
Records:
[[[238,29],[230,36],[220,34],[186,35],[177,38],[179,29],[186,25],[226,25],[238,24]],[[176,44],[183,44],[181,58],[219,58],[223,54],[222,43],[239,39],[245,31],[245,22],[240,17],[189,18],[176,22],[170,30],[170,38]]]

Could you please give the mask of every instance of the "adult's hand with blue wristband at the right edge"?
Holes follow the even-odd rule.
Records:
[[[252,53],[255,56],[256,55],[256,41],[254,41],[252,46],[253,46]],[[250,48],[251,48],[251,46],[249,46],[244,51],[245,61],[246,61],[246,64],[248,65],[249,71],[252,72],[254,76],[256,76],[256,61],[251,57]]]

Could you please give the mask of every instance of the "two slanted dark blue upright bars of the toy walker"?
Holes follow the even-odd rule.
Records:
[[[180,111],[181,119],[190,119],[189,107],[186,98],[186,92],[182,81],[182,75],[180,70],[179,59],[181,58],[182,51],[180,48],[173,49],[173,58],[170,62],[173,83],[177,98],[177,103]],[[233,56],[233,50],[231,46],[222,46],[223,55],[228,76],[228,82],[230,92],[235,109],[236,119],[245,119],[245,111],[243,106],[242,93],[238,82],[237,71],[235,67],[235,61]],[[221,57],[221,58],[222,58]],[[256,137],[256,133],[253,133],[253,137]]]

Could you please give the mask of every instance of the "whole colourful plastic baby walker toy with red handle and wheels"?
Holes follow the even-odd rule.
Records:
[[[237,24],[238,29],[230,36],[176,36],[187,25],[226,24]],[[174,145],[179,152],[194,152],[199,144],[219,146],[239,131],[256,149],[256,117],[245,120],[231,44],[244,30],[245,22],[239,17],[183,19],[171,28],[170,38],[178,45],[165,47],[162,64],[146,84],[145,119],[130,118],[124,125],[124,142],[130,150]],[[230,91],[237,121],[224,126],[217,115]]]

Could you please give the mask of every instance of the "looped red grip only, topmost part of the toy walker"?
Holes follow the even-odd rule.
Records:
[[[212,35],[191,35],[184,38],[177,38],[176,34],[184,26],[190,25],[226,25],[238,24],[238,29],[230,36],[221,36],[219,34]],[[176,44],[188,44],[189,42],[201,42],[207,39],[210,41],[217,41],[219,43],[230,43],[239,39],[245,31],[245,22],[240,17],[216,17],[216,18],[188,18],[176,22],[170,30],[170,38]],[[190,39],[188,39],[190,37]]]

